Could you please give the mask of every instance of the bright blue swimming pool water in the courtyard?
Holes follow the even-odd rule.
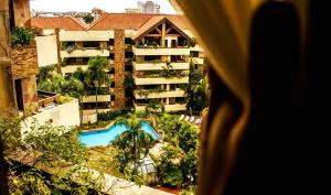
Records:
[[[119,123],[110,126],[106,130],[81,132],[79,141],[86,147],[108,145],[110,141],[114,141],[118,134],[125,132],[127,129],[125,124]],[[149,123],[143,122],[141,129],[150,133],[153,139],[159,139],[159,136]]]

